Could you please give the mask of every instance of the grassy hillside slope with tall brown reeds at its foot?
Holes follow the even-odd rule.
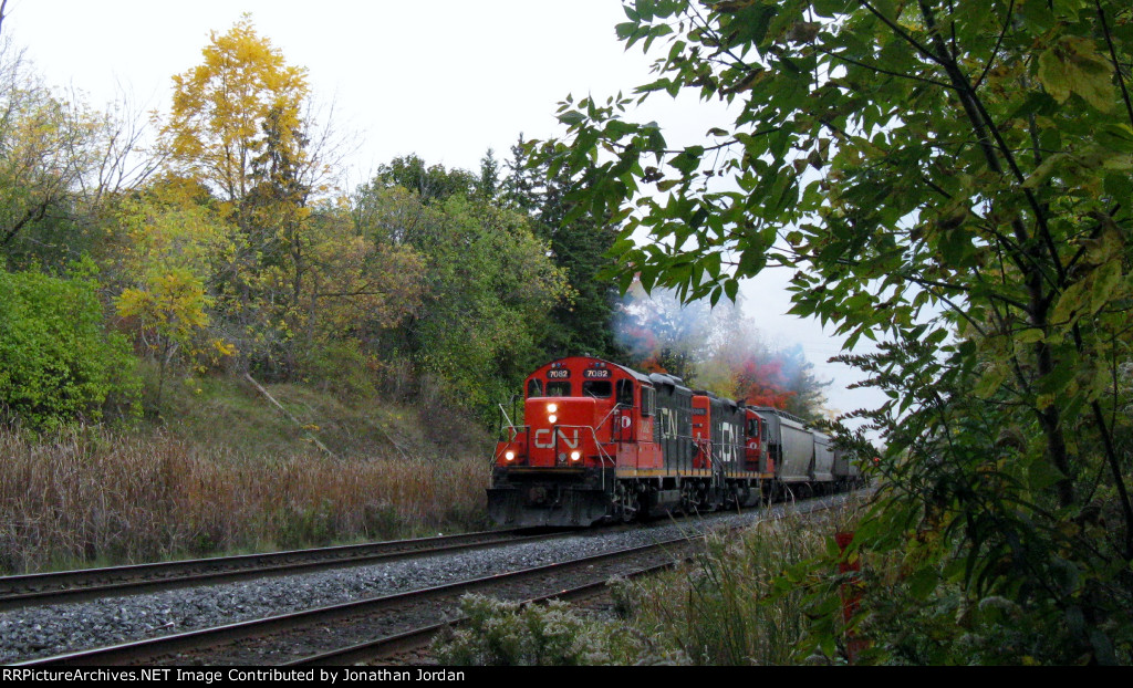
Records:
[[[491,443],[457,413],[265,388],[303,426],[207,377],[167,380],[160,417],[129,430],[0,430],[0,574],[486,525]]]

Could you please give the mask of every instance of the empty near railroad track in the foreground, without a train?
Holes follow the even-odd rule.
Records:
[[[815,503],[806,510],[827,508],[830,504]],[[785,509],[778,509],[778,512],[774,518],[782,518]],[[695,546],[692,543],[701,537],[700,533],[685,534],[553,564],[43,657],[16,665],[315,665],[368,661],[427,645],[442,627],[453,622],[444,617],[465,593],[492,591],[496,596],[521,601],[585,596],[604,588],[606,580],[614,575],[648,575],[687,559],[691,554],[690,547]]]

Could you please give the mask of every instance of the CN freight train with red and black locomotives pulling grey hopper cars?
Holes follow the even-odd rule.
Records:
[[[531,373],[525,392],[525,423],[509,421],[493,461],[488,512],[499,525],[712,511],[835,482],[825,435],[680,377],[572,356]],[[837,465],[857,476],[852,462]]]

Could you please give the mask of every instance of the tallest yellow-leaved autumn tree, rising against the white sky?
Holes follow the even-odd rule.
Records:
[[[248,15],[213,32],[203,62],[173,77],[162,141],[177,175],[220,202],[231,264],[214,284],[241,365],[288,357],[295,312],[313,269],[308,196],[318,164],[308,155],[307,74],[258,35]]]

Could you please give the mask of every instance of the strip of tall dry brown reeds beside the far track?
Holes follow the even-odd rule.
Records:
[[[478,526],[487,482],[483,457],[264,457],[161,434],[0,430],[0,571]]]

